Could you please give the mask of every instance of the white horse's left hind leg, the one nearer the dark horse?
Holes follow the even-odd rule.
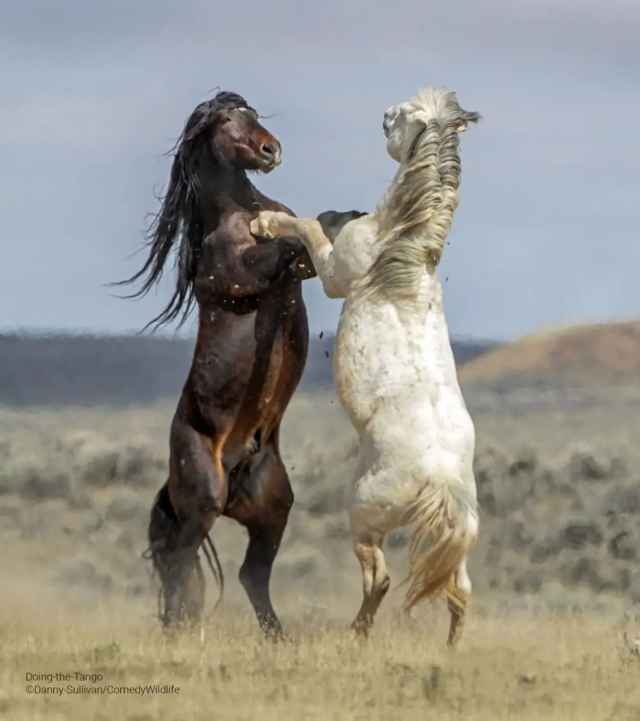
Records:
[[[354,535],[353,550],[362,567],[362,605],[351,627],[366,636],[373,624],[378,606],[389,590],[391,579],[382,552],[381,534]]]

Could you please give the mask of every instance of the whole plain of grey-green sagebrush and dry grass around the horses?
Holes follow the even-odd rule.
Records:
[[[224,609],[177,638],[158,629],[141,554],[169,405],[0,411],[0,717],[635,721],[640,394],[598,394],[469,387],[482,538],[454,653],[443,603],[399,616],[402,533],[371,638],[347,630],[360,600],[343,510],[355,438],[330,393],[299,394],[283,433],[296,504],[273,578],[282,644],[260,637],[236,580],[244,533],[225,520]],[[209,609],[214,598],[211,583]],[[93,680],[27,677],[76,672]],[[180,692],[139,695],[148,684]]]

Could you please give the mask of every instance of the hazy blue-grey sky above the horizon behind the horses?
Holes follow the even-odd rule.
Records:
[[[137,269],[164,152],[192,108],[235,90],[284,163],[257,184],[294,208],[371,209],[393,174],[385,108],[446,85],[462,136],[441,266],[454,334],[510,338],[640,316],[640,3],[2,0],[0,327],[137,330],[102,284]],[[340,304],[306,284],[312,327]]]

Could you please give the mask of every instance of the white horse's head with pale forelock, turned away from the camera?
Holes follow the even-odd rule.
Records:
[[[387,139],[387,152],[398,163],[406,163],[430,120],[445,121],[456,116],[456,130],[461,133],[470,122],[477,122],[477,113],[460,109],[455,93],[447,88],[427,87],[415,98],[387,108],[382,129]]]

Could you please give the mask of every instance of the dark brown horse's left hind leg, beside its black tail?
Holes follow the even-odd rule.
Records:
[[[166,626],[196,622],[204,607],[198,548],[226,503],[211,441],[181,420],[171,434],[171,477],[156,497],[149,524],[154,565],[162,583]]]

